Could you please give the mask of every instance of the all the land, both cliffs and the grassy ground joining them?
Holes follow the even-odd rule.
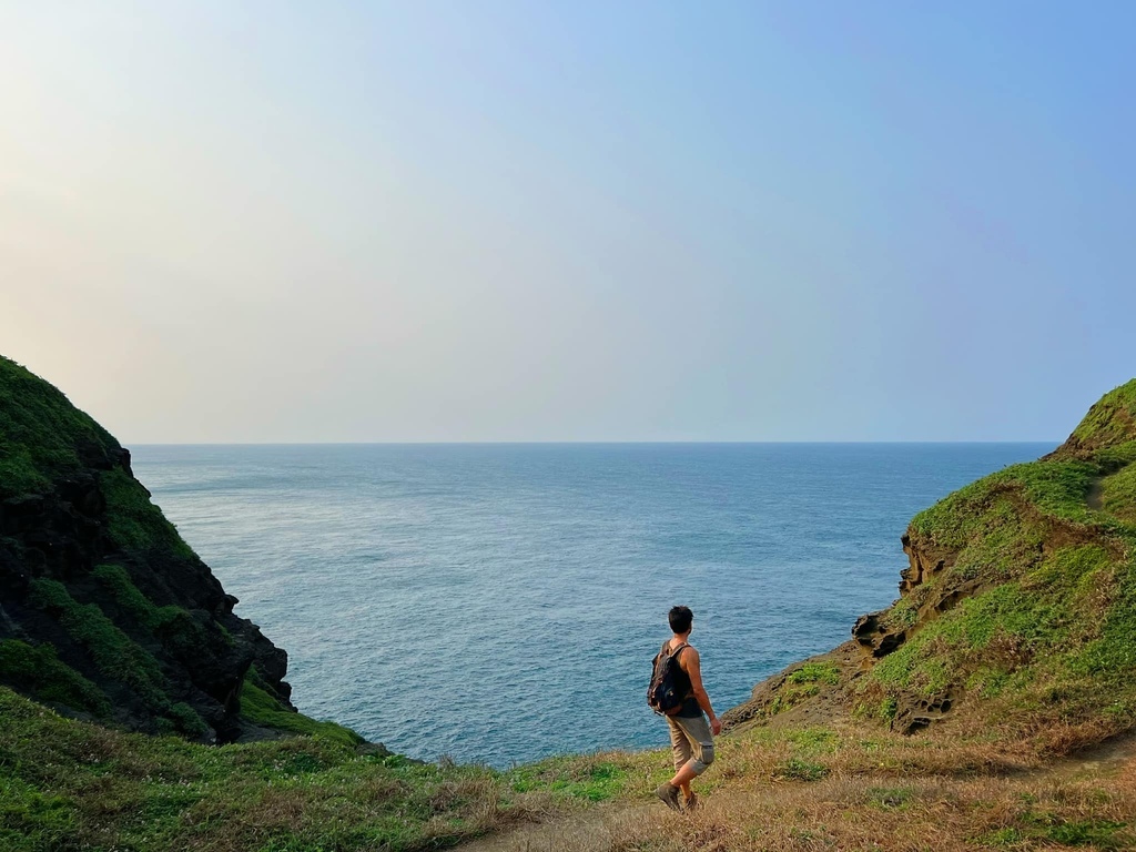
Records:
[[[661,750],[429,765],[296,712],[130,453],[0,358],[0,849],[1133,847],[1134,462],[1136,379],[919,513],[899,600],[730,710],[678,816]]]

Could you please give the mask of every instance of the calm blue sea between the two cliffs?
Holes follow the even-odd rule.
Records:
[[[910,518],[1049,444],[139,446],[290,654],[294,703],[423,759],[666,743],[667,610],[721,712],[896,596]]]

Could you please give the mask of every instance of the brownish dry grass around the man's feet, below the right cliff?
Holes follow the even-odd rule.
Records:
[[[693,815],[652,801],[665,752],[628,754],[635,780],[624,802],[469,852],[1136,849],[1134,749],[1129,741],[1112,754],[1053,761],[1025,744],[901,737],[852,724],[754,729],[719,741]]]

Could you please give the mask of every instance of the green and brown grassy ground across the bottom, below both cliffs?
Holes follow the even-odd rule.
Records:
[[[704,812],[673,819],[637,807],[669,776],[668,750],[498,772],[360,757],[320,735],[211,747],[122,734],[3,688],[0,718],[0,849],[12,852],[427,850],[550,817],[556,849],[594,852],[574,832],[592,818],[571,813],[598,802],[611,847],[641,852],[1136,844],[1136,765],[1077,778],[1027,749],[935,730],[750,728],[719,740]]]

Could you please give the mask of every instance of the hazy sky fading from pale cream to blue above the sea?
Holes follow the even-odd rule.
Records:
[[[127,445],[1058,442],[1136,375],[1134,31],[0,0],[0,353]]]

